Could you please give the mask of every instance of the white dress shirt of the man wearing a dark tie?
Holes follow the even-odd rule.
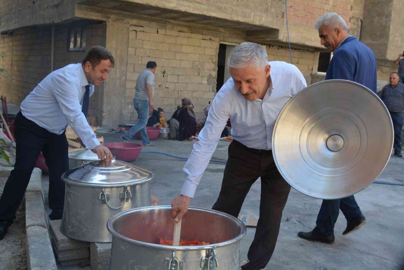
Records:
[[[81,64],[70,64],[47,75],[21,103],[21,113],[49,132],[62,134],[69,124],[88,149],[99,142],[81,111],[88,85]],[[90,96],[94,85],[90,86]]]

